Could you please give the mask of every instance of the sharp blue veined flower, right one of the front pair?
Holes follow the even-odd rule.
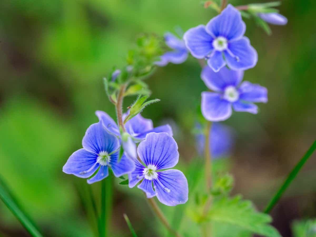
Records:
[[[188,181],[184,174],[174,167],[179,160],[178,145],[165,132],[149,133],[139,143],[135,160],[136,168],[128,175],[129,187],[137,186],[146,193],[148,198],[157,196],[167,206],[184,204],[188,200]],[[162,169],[167,169],[163,170]]]

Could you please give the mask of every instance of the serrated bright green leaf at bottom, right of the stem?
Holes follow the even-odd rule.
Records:
[[[268,214],[255,210],[252,202],[222,197],[214,201],[207,219],[213,222],[227,223],[266,237],[280,237],[278,231],[270,225],[272,218]]]

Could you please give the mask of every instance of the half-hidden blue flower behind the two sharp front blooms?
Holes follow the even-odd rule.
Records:
[[[120,136],[118,125],[106,112],[98,110],[95,114],[110,133]],[[127,115],[128,112],[124,113],[123,119]],[[150,132],[167,132],[170,136],[173,136],[170,125],[166,124],[154,128],[152,120],[145,119],[140,114],[137,114],[135,117],[128,120],[125,124],[125,129],[131,137],[128,138],[127,142],[123,142],[122,146],[126,154],[132,159],[137,158],[135,142],[140,142],[145,139],[146,134]]]

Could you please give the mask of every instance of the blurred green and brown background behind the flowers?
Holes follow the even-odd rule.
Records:
[[[244,79],[267,87],[269,102],[259,105],[258,115],[234,113],[225,122],[236,131],[230,159],[234,193],[253,200],[259,210],[316,137],[316,2],[283,1],[280,12],[289,22],[271,26],[271,36],[245,19],[246,36],[259,59]],[[140,33],[174,33],[177,26],[185,31],[214,15],[198,0],[0,1],[0,175],[45,236],[93,235],[78,195],[86,181],[64,174],[62,166],[97,122],[95,110],[114,118],[102,78],[125,64]],[[197,159],[191,130],[206,90],[200,71],[189,58],[159,68],[147,81],[152,97],[161,102],[143,116],[154,125],[167,121],[173,126],[180,167]],[[313,155],[272,212],[283,236],[291,236],[294,219],[316,216],[315,171]],[[129,236],[123,213],[139,236],[163,235],[155,231],[161,226],[141,191],[118,183],[112,236]],[[100,184],[91,186],[97,195]],[[28,236],[2,202],[0,235]]]

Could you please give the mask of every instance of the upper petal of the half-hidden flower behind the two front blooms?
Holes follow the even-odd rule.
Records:
[[[127,114],[128,113],[125,113],[123,117],[125,118]],[[145,119],[142,115],[137,114],[135,117],[126,122],[125,128],[126,131],[134,137],[140,133],[153,129],[154,126],[151,119]]]

